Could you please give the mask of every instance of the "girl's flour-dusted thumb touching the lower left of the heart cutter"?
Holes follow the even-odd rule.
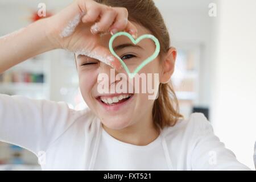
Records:
[[[104,46],[97,46],[93,49],[90,57],[102,61],[105,64],[119,70],[122,68],[120,61],[110,53],[109,49]]]

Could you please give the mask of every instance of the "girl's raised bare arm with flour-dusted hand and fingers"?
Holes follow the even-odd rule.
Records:
[[[137,36],[127,10],[109,7],[92,0],[76,0],[60,13],[38,20],[0,38],[0,73],[14,65],[56,48],[67,49],[98,59],[112,67],[121,63],[100,45],[102,32],[127,31]]]

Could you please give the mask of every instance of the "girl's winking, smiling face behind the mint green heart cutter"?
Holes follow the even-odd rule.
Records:
[[[143,34],[151,34],[146,28],[139,24],[135,23],[135,26],[138,28],[138,37]],[[101,36],[102,46],[108,48],[110,37],[111,35]],[[126,36],[119,36],[114,40],[113,48],[115,53],[121,57],[130,71],[133,72],[143,60],[146,60],[147,57],[154,53],[155,43],[150,39],[144,39],[142,42],[134,45]],[[145,86],[142,84],[142,79],[140,79],[139,85],[135,85],[133,84],[134,79],[129,79],[123,68],[117,72],[109,65],[82,55],[76,55],[76,59],[82,97],[106,127],[119,130],[132,126],[137,122],[146,122],[148,119],[152,119],[154,100],[148,98],[152,93],[148,93],[147,88],[147,92],[142,93],[142,87]],[[123,73],[126,77],[122,77],[123,80],[116,79],[115,76],[111,76],[111,69],[112,73],[113,71],[115,72],[115,76],[117,76],[118,73]],[[159,81],[162,75],[161,72],[162,66],[158,56],[154,61],[151,61],[151,63],[141,69],[139,74],[144,73],[146,80],[143,81],[148,82],[147,73],[152,73],[151,89],[156,89],[155,92],[158,92]],[[109,77],[109,92],[111,88],[117,88],[118,83],[121,84],[121,81],[127,85],[126,92],[122,92],[121,94],[117,92],[100,93],[98,88],[102,82],[98,81],[97,78],[98,75],[102,73],[105,73]],[[154,73],[159,74],[158,82],[154,81]],[[147,85],[148,84],[146,84],[146,86]],[[130,93],[129,86],[130,89],[132,88],[133,93]],[[138,90],[138,87],[141,87],[139,88],[140,93],[137,93],[138,91],[135,93],[134,91],[135,89]],[[107,104],[105,102],[107,102]]]

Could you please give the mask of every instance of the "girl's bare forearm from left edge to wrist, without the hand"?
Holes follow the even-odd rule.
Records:
[[[47,19],[0,38],[0,73],[55,47],[46,36]]]

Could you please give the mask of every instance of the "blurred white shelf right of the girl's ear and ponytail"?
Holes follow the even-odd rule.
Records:
[[[200,87],[202,86],[203,47],[200,43],[177,43],[177,58],[172,76],[180,113],[188,118],[195,106],[201,106]]]

